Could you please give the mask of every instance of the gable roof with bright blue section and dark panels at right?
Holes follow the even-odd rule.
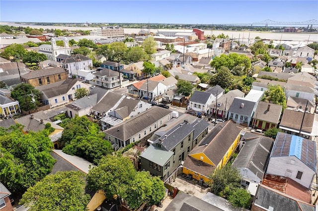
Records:
[[[292,134],[278,132],[271,158],[295,156],[316,172],[316,142]]]

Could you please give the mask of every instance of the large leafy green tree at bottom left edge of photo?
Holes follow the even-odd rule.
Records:
[[[21,203],[30,211],[87,211],[90,196],[85,194],[85,175],[81,171],[58,171],[23,194]]]

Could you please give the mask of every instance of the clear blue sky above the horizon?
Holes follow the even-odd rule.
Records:
[[[318,20],[317,0],[0,0],[0,21],[253,23]]]

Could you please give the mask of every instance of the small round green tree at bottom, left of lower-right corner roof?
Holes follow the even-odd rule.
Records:
[[[241,188],[234,188],[227,198],[234,207],[246,209],[249,208],[252,200],[250,193]]]

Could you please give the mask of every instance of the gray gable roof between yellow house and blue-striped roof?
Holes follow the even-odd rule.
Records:
[[[248,168],[258,178],[262,179],[274,140],[265,136],[256,136],[249,139],[243,137],[242,140],[245,144],[232,166]]]

